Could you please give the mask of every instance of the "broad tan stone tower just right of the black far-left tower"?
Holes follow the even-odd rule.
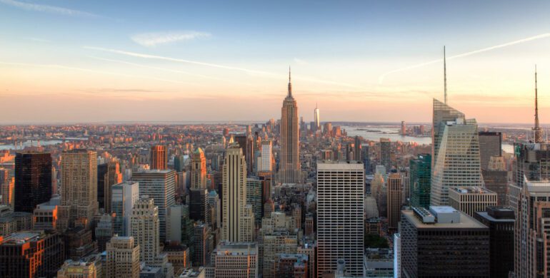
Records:
[[[97,153],[83,149],[61,153],[61,205],[58,229],[91,227],[98,207]]]

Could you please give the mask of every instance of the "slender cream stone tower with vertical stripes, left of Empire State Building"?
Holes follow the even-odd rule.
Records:
[[[250,242],[254,234],[254,214],[246,204],[246,161],[239,144],[226,149],[222,178],[222,235],[229,242]]]

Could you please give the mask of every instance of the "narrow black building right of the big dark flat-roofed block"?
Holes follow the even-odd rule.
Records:
[[[487,207],[475,218],[489,227],[491,277],[508,277],[514,271],[514,210]]]

